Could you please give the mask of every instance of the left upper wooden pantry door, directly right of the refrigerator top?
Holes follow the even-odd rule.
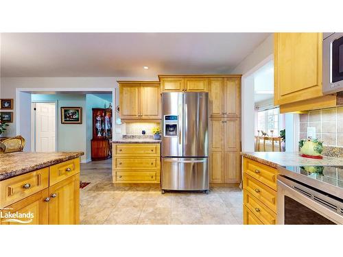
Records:
[[[224,79],[210,79],[210,117],[224,117]]]

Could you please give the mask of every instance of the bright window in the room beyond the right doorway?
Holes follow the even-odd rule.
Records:
[[[279,136],[280,130],[283,129],[282,121],[283,114],[280,114],[280,108],[272,108],[257,112],[257,130],[263,130],[263,132],[267,132],[269,136]],[[273,131],[273,133],[271,131]]]

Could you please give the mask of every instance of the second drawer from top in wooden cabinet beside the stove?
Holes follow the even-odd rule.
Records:
[[[268,206],[273,212],[276,213],[276,191],[272,188],[265,186],[258,180],[251,178],[246,173],[243,177],[244,189],[251,195],[259,199],[263,204]]]

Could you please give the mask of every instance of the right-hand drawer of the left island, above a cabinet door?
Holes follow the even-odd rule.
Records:
[[[61,162],[49,167],[49,182],[50,186],[65,180],[80,173],[80,158],[73,160],[67,160],[67,162]]]

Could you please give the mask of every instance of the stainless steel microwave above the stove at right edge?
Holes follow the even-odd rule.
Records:
[[[343,33],[323,33],[322,93],[343,91]]]

